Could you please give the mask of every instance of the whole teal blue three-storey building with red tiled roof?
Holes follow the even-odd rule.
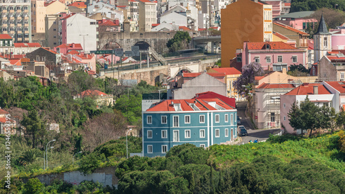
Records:
[[[237,110],[219,98],[164,100],[142,118],[144,156],[164,156],[184,143],[206,148],[237,138]]]

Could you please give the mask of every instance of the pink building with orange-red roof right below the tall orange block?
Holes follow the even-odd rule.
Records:
[[[288,66],[302,63],[306,65],[306,50],[297,49],[283,42],[244,42],[242,66],[256,62],[264,70],[282,71]]]

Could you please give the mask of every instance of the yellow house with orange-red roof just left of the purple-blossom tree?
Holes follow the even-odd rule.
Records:
[[[226,91],[227,91],[226,96],[229,98],[238,97],[237,93],[234,90],[233,82],[235,80],[237,80],[237,78],[239,76],[242,75],[242,73],[239,72],[239,70],[235,69],[235,67],[222,67],[222,68],[209,68],[209,69],[207,69],[207,72],[208,73],[224,73],[224,74],[226,74],[226,76],[224,78],[225,79],[224,81],[226,83]]]

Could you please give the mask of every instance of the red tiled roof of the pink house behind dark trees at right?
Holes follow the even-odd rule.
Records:
[[[285,95],[313,95],[314,94],[314,86],[317,86],[318,88],[318,94],[331,94],[324,85],[321,83],[304,83],[300,85],[299,87],[296,87],[295,89],[289,91]]]

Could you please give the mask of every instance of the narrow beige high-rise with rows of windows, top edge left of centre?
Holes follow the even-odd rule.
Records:
[[[151,32],[157,23],[157,1],[139,0],[139,32]]]

